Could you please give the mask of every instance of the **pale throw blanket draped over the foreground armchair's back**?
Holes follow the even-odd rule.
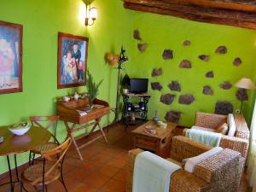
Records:
[[[137,154],[132,192],[169,192],[172,172],[180,168],[148,151]]]

